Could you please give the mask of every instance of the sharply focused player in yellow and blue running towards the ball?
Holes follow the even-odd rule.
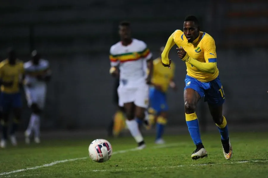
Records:
[[[163,66],[171,68],[169,50],[177,45],[177,53],[186,62],[187,75],[184,88],[184,107],[186,123],[196,149],[192,159],[207,157],[199,132],[199,125],[195,109],[197,102],[204,97],[208,102],[212,119],[221,135],[223,154],[229,160],[232,156],[227,122],[222,115],[222,105],[225,100],[222,84],[217,68],[217,55],[214,39],[207,33],[200,31],[199,22],[195,16],[187,16],[183,31],[176,30],[169,37],[162,53]]]

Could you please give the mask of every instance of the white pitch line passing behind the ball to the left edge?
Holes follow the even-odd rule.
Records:
[[[170,147],[170,146],[177,146],[183,143],[177,143],[177,144],[166,144],[166,145],[159,145],[159,146],[155,146],[153,148],[166,148],[166,147]],[[126,150],[121,150],[121,151],[117,151],[117,152],[113,152],[113,155],[115,154],[119,154],[119,153],[126,153],[126,152],[130,152],[130,151],[138,151],[139,149],[134,148],[134,149],[126,149]],[[8,174],[13,174],[13,173],[18,173],[18,172],[23,172],[23,171],[27,171],[27,170],[32,170],[32,169],[39,169],[39,168],[43,168],[43,167],[49,167],[49,166],[53,166],[55,164],[58,163],[65,163],[65,162],[69,162],[69,161],[76,161],[76,160],[84,160],[84,159],[88,159],[88,157],[80,157],[80,158],[74,158],[74,159],[68,159],[68,160],[60,160],[60,161],[54,161],[52,163],[48,163],[48,164],[43,164],[42,166],[35,166],[35,167],[31,167],[31,168],[25,168],[25,169],[18,169],[15,171],[10,171],[10,172],[1,172],[0,176],[2,175],[8,175]]]

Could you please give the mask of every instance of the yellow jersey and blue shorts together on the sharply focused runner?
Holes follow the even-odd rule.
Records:
[[[207,33],[200,31],[199,36],[192,43],[188,43],[183,31],[176,30],[173,33],[173,40],[178,47],[182,47],[191,58],[199,62],[217,62],[216,45],[214,39]],[[184,89],[194,89],[209,104],[222,105],[225,95],[219,70],[216,68],[214,73],[207,73],[197,69],[186,62],[187,75],[185,78]]]

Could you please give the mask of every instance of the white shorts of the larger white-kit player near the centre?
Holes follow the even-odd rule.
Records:
[[[136,106],[148,108],[149,106],[149,86],[146,83],[138,84],[137,86],[124,86],[120,84],[118,89],[119,106],[124,106],[124,103],[134,102]]]

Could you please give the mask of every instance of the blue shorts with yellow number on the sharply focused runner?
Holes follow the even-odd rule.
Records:
[[[191,88],[204,97],[204,101],[209,104],[222,105],[225,101],[225,96],[219,76],[209,82],[200,82],[197,79],[186,75],[185,89]]]

